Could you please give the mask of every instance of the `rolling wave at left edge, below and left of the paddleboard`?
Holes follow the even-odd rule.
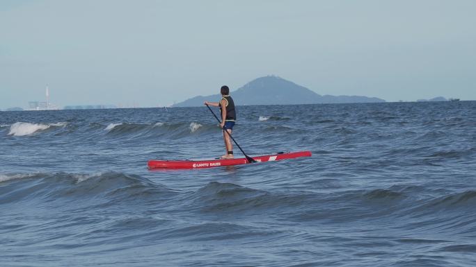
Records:
[[[23,199],[42,200],[86,200],[93,196],[109,203],[117,199],[155,198],[162,193],[173,192],[161,184],[156,184],[139,175],[126,173],[17,173],[2,174],[0,182],[30,178],[22,186],[10,189],[0,187],[0,203],[16,202]],[[34,179],[31,182],[31,179]]]

